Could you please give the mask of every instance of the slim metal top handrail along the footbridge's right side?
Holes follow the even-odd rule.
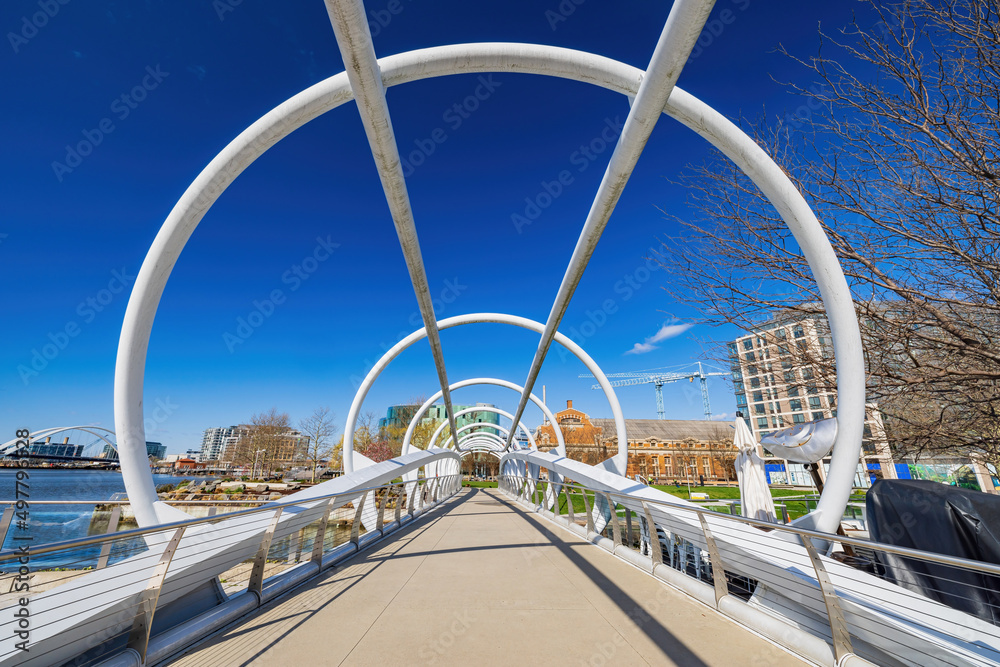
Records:
[[[501,475],[502,478],[511,479],[530,479],[522,475]],[[751,519],[744,516],[736,516],[733,514],[723,514],[721,512],[713,512],[712,510],[702,509],[700,507],[688,507],[686,505],[674,504],[664,500],[658,500],[653,498],[643,498],[640,496],[628,495],[616,491],[605,491],[604,489],[595,489],[591,487],[586,487],[577,483],[570,482],[559,482],[560,486],[563,487],[573,487],[581,491],[594,491],[596,493],[606,494],[609,496],[617,498],[625,498],[638,503],[649,503],[655,505],[662,505],[665,507],[670,507],[672,509],[684,510],[686,512],[692,512],[698,515],[708,515],[722,519],[724,521],[733,521],[735,523],[744,523],[756,528],[766,528],[767,530],[779,530],[787,533],[792,533],[800,537],[816,538],[818,540],[826,542],[839,542],[841,544],[849,544],[851,546],[863,547],[865,549],[874,549],[875,551],[884,551],[886,553],[896,554],[898,556],[903,556],[906,558],[916,558],[919,560],[927,560],[935,563],[940,563],[941,565],[949,565],[951,567],[960,567],[969,570],[975,570],[977,572],[983,572],[986,574],[991,574],[995,576],[1000,576],[1000,565],[993,565],[992,563],[984,563],[982,561],[969,560],[967,558],[959,558],[956,556],[948,556],[946,554],[938,554],[932,551],[922,551],[920,549],[911,549],[909,547],[900,547],[892,544],[885,544],[883,542],[872,542],[870,540],[860,540],[854,537],[844,537],[841,535],[836,535],[832,533],[822,533],[815,530],[809,530],[807,528],[796,528],[788,524],[780,523],[770,523],[767,521],[760,521],[758,519]],[[0,554],[2,556],[2,554]]]

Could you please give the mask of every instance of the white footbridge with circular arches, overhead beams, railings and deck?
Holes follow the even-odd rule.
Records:
[[[379,59],[361,0],[325,3],[345,71],[282,102],[226,146],[172,209],[135,281],[115,370],[115,422],[139,528],[34,548],[35,558],[63,554],[84,562],[88,549],[110,551],[117,540],[118,557],[93,571],[64,570],[55,585],[34,594],[30,633],[19,629],[19,603],[9,600],[3,618],[13,621],[0,620],[0,665],[412,664],[484,654],[506,663],[528,652],[532,659],[560,655],[583,664],[1000,663],[995,625],[827,556],[835,541],[852,542],[833,533],[850,497],[865,416],[857,320],[837,257],[789,177],[733,123],[676,86],[712,0],[674,2],[645,70],[516,43],[437,46]],[[630,104],[545,322],[505,313],[435,318],[385,100],[389,86],[489,72],[580,81]],[[352,100],[423,327],[387,351],[358,389],[344,428],[343,477],[260,507],[195,519],[158,500],[146,464],[143,383],[161,295],[187,240],[240,173],[296,128]],[[822,295],[837,366],[837,440],[817,507],[793,524],[707,511],[628,479],[626,422],[614,390],[596,362],[559,332],[663,115],[720,150],[760,188],[795,236]],[[523,382],[449,380],[440,332],[484,323],[538,334]],[[400,456],[371,461],[353,449],[365,398],[385,368],[425,338],[440,391],[421,412],[443,403],[447,419],[431,444],[447,430],[444,446],[412,447],[411,423]],[[558,425],[532,394],[553,344],[587,367],[608,400],[618,451],[599,465],[566,457]],[[479,384],[517,393],[514,409],[501,412],[510,426],[491,425],[498,433],[456,423],[461,412],[453,409],[452,390]],[[514,446],[529,402],[555,428],[552,451],[534,442]],[[500,458],[499,489],[461,487],[461,458],[470,452]],[[0,565],[17,557],[5,551]],[[1000,575],[1000,568],[947,562]],[[30,635],[30,652],[19,651],[19,632]],[[457,641],[465,633],[478,639],[467,654]]]

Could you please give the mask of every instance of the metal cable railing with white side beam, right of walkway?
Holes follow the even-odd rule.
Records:
[[[548,482],[545,475],[503,475],[500,488],[806,657],[826,664],[858,656],[876,664],[1000,664],[1000,566]],[[837,544],[866,556],[828,557]],[[766,617],[747,622],[748,609],[784,627],[763,627]],[[782,634],[791,639],[781,641]],[[810,639],[826,646],[803,647]]]

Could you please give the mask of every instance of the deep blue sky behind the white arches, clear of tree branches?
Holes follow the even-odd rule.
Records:
[[[852,4],[719,0],[713,31],[679,85],[731,118],[765,108],[771,116],[794,113],[804,100],[775,79],[808,79],[775,47],[815,53],[817,25],[843,25]],[[557,0],[367,3],[380,56],[520,41],[639,67],[669,11],[669,3],[648,0],[562,6],[561,14]],[[320,0],[8,0],[0,31],[0,440],[16,428],[112,427],[131,280],[167,213],[240,131],[343,63]],[[477,87],[485,98],[478,108],[456,112]],[[486,86],[476,76],[422,81],[387,97],[404,156],[427,146],[435,130],[446,137],[417,155],[421,164],[408,176],[439,315],[498,311],[544,321],[611,154],[610,146],[580,149],[599,147],[602,133],[614,136],[627,101],[515,74],[493,75]],[[81,142],[86,155],[68,150]],[[664,211],[685,211],[684,190],[667,179],[710,155],[705,142],[662,118],[601,239],[561,330],[580,337],[608,373],[689,365],[711,340],[735,333],[698,326],[690,308],[660,289],[662,272],[649,271],[645,259],[677,231]],[[572,181],[532,224],[519,226],[514,216],[524,215],[525,200],[563,170]],[[307,259],[327,255],[315,265]],[[234,343],[240,318],[275,289],[284,302]],[[272,406],[297,421],[329,405],[342,427],[352,378],[419,322],[356,107],[344,105],[251,165],[189,241],[153,329],[146,405],[159,401],[166,416],[148,437],[181,452],[197,446],[205,428]],[[521,383],[537,335],[478,325],[445,331],[442,342],[452,381],[488,375]],[[35,354],[46,345],[51,359]],[[577,377],[585,372],[554,351],[536,393],[544,384],[554,409],[574,399],[609,416],[603,395]],[[710,386],[713,411],[731,415],[729,386]],[[695,387],[665,388],[668,417],[701,417]],[[437,388],[422,343],[383,374],[366,409],[384,413]],[[619,398],[627,416],[655,417],[651,386],[623,388]],[[513,410],[516,395],[469,388],[455,400]],[[537,423],[540,413],[527,414]]]

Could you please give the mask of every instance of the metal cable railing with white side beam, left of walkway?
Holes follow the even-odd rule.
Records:
[[[0,589],[0,607],[10,612],[0,608],[0,633],[17,634],[14,591],[22,574],[30,584],[33,620],[30,633],[25,631],[30,652],[19,654],[3,642],[0,664],[75,659],[75,665],[92,665],[123,651],[131,653],[131,664],[162,660],[176,650],[177,640],[151,656],[154,634],[171,628],[176,634],[182,625],[188,630],[181,646],[190,645],[218,627],[219,618],[231,622],[252,611],[408,524],[460,487],[457,474],[419,478],[31,546],[27,572],[19,570],[23,551],[0,551],[0,572],[6,573],[0,581],[9,579],[12,591]],[[94,572],[99,569],[105,572]],[[215,620],[198,623],[205,612]],[[79,637],[69,636],[74,633],[60,640],[63,626],[87,629],[85,650],[77,650]]]

